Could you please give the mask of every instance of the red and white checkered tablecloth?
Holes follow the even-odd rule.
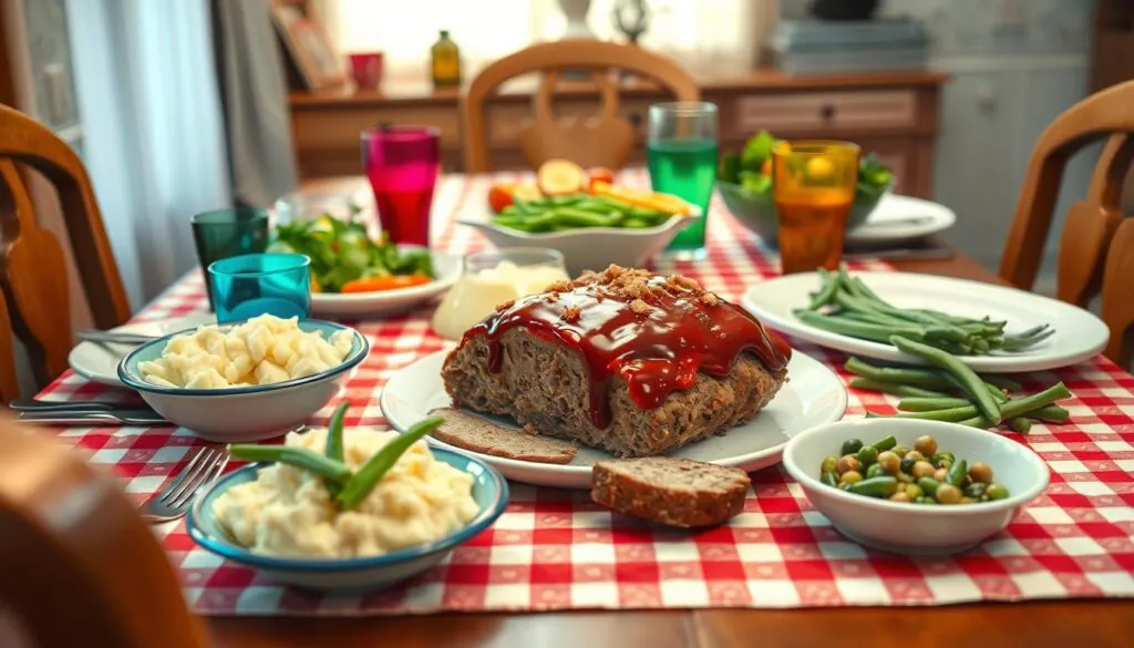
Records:
[[[462,212],[482,213],[489,183],[486,177],[449,177],[439,186],[434,232],[442,233],[442,247],[465,252],[483,244],[452,221]],[[659,270],[693,276],[737,300],[751,284],[777,273],[776,259],[722,205],[711,211],[709,259]],[[138,319],[183,315],[204,303],[194,273]],[[350,322],[370,339],[371,354],[347,386],[354,404],[348,423],[386,426],[378,406],[381,386],[398,369],[441,348],[428,320],[429,309],[423,309]],[[846,379],[840,354],[799,348]],[[1134,377],[1100,356],[1030,375],[1025,382],[1039,388],[1056,379],[1075,394],[1066,403],[1073,423],[1036,424],[1021,439],[1048,462],[1050,487],[1006,532],[950,558],[864,549],[831,528],[779,468],[752,476],[754,491],[729,524],[696,533],[612,515],[584,493],[513,485],[508,510],[491,529],[420,578],[364,597],[321,598],[276,586],[196,547],[179,522],[156,532],[180,570],[192,606],[203,614],[940,605],[1134,596]],[[108,398],[110,392],[67,373],[44,396]],[[886,396],[850,390],[848,413],[891,404]],[[325,423],[329,414],[330,407],[314,422]],[[172,428],[69,428],[59,438],[118,473],[138,500],[203,445]]]

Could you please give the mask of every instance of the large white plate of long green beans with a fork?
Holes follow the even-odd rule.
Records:
[[[764,325],[860,357],[930,364],[890,340],[932,346],[978,371],[1066,367],[1107,345],[1098,317],[1049,297],[912,272],[818,271],[763,281],[742,304]]]

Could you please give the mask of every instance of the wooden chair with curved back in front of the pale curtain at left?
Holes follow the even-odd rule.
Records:
[[[0,106],[0,397],[15,396],[11,333],[24,343],[36,379],[67,369],[73,343],[66,256],[58,238],[40,227],[25,182],[29,167],[59,196],[71,253],[95,326],[129,318],[129,304],[83,161],[42,124]],[[10,323],[9,323],[10,322]]]

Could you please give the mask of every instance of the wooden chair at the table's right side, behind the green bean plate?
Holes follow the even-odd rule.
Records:
[[[1134,162],[1134,81],[1072,106],[1040,135],[1016,203],[1000,276],[1018,288],[1032,288],[1064,167],[1076,151],[1103,137],[1107,144],[1086,196],[1072,205],[1060,235],[1057,295],[1085,306],[1101,293],[1102,319],[1110,328],[1106,354],[1128,365],[1134,353],[1134,219],[1123,213],[1119,201]]]

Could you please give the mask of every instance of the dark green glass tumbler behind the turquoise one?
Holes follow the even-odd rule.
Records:
[[[214,209],[194,214],[189,224],[201,268],[208,268],[213,261],[268,249],[268,211],[263,209]],[[217,310],[208,275],[205,289],[209,306]]]

